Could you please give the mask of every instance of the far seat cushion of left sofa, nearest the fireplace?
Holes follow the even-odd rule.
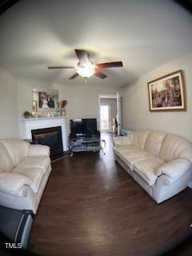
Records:
[[[50,158],[48,157],[31,157],[25,158],[17,166],[17,169],[25,168],[40,168],[46,173],[48,166],[50,166]]]

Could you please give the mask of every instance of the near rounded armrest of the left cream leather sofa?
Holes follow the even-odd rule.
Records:
[[[30,186],[32,181],[23,174],[13,174],[7,172],[0,173],[0,191],[17,197],[26,197],[24,186]]]

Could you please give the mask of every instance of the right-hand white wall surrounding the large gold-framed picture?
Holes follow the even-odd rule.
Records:
[[[147,62],[147,59],[146,59]],[[169,62],[143,75],[122,89],[123,127],[150,128],[180,134],[192,141],[192,54]],[[150,112],[147,82],[176,70],[184,71],[186,81],[186,111]]]

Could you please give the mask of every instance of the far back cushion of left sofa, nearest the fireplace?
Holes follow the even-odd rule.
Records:
[[[1,139],[0,143],[6,147],[10,158],[14,162],[14,166],[18,166],[18,163],[28,155],[30,147],[30,143],[28,142],[23,142],[22,140],[14,138],[7,138]]]

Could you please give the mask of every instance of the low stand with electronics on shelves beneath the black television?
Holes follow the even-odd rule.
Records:
[[[103,144],[103,146],[102,146]],[[104,153],[103,149],[106,146],[106,141],[104,139],[100,138],[97,135],[86,135],[86,134],[70,134],[69,139],[69,148],[70,148],[70,157],[74,155],[74,152],[98,152],[99,150],[102,150],[102,153]]]

